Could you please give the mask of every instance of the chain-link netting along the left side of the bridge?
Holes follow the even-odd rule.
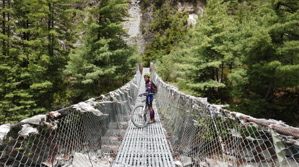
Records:
[[[128,127],[140,79],[137,71],[128,84],[104,96],[1,125],[0,167],[110,167]]]

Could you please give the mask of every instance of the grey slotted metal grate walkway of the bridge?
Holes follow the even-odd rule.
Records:
[[[149,68],[144,68],[143,72],[149,72]],[[145,92],[143,78],[140,85],[139,94]],[[137,98],[136,105],[142,104],[142,98]],[[144,128],[137,128],[132,122],[129,123],[113,167],[175,167],[155,100],[153,110],[155,123]]]

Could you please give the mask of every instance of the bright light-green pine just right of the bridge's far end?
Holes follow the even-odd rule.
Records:
[[[194,96],[220,98],[225,87],[227,72],[237,59],[235,45],[238,37],[237,22],[227,14],[227,3],[209,1],[197,25],[189,31],[185,53],[180,62],[185,63],[178,85]],[[220,6],[220,7],[219,7]]]

